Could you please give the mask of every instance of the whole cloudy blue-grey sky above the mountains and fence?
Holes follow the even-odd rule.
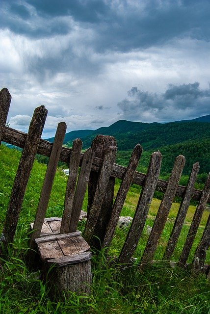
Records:
[[[210,114],[209,0],[1,0],[0,89],[8,121],[27,131],[48,109],[43,137],[126,119]]]

